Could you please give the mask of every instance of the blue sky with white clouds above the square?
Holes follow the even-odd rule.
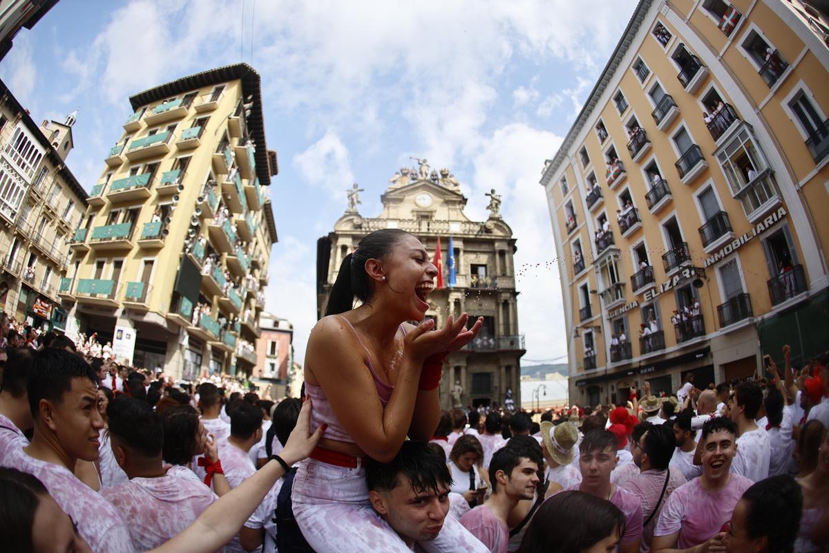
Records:
[[[36,121],[78,109],[67,165],[87,189],[132,113],[128,96],[245,61],[261,75],[279,242],[266,309],[293,323],[303,361],[316,322],[316,241],[347,206],[363,216],[410,157],[448,167],[466,213],[517,239],[524,365],[566,362],[567,330],[543,187],[552,158],[633,14],[633,0],[332,2],[61,0],[23,29],[0,78]]]

